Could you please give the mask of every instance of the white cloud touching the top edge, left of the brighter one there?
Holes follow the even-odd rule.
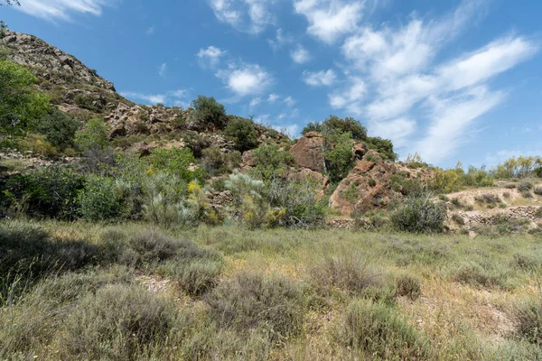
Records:
[[[276,22],[272,7],[276,0],[210,0],[217,19],[239,32],[259,33]]]

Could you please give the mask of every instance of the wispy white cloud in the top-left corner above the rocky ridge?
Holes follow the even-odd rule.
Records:
[[[106,0],[24,0],[15,6],[23,13],[46,20],[70,21],[72,14],[92,14],[99,16],[102,7],[110,4]]]

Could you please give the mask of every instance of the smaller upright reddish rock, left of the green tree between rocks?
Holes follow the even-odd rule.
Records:
[[[294,156],[295,163],[301,168],[320,172],[325,170],[322,134],[316,132],[304,134],[290,149],[290,153]]]

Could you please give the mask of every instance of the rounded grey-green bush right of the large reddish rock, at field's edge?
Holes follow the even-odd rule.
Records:
[[[410,197],[391,215],[391,222],[399,231],[439,233],[444,230],[446,208],[430,195]]]

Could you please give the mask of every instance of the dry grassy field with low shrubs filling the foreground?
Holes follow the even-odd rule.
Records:
[[[0,223],[0,359],[542,359],[542,238]]]

